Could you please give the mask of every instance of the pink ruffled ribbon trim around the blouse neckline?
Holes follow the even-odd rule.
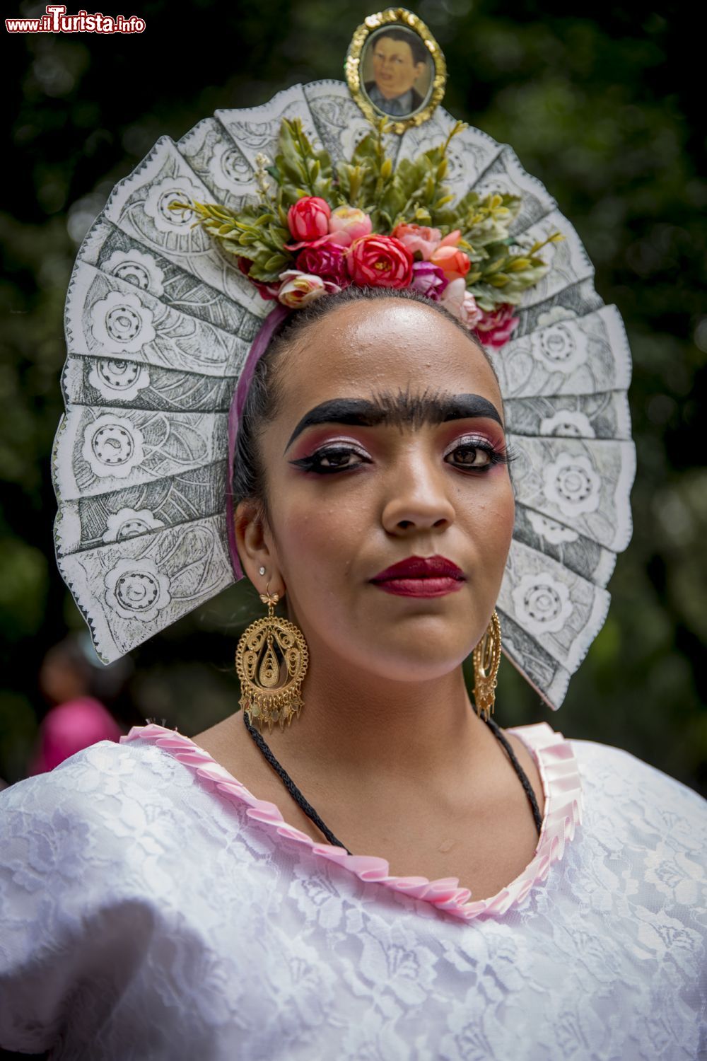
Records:
[[[246,814],[273,829],[279,836],[304,843],[315,855],[338,863],[361,881],[384,884],[393,891],[401,891],[413,899],[424,899],[454,917],[473,921],[482,914],[500,916],[523,902],[535,884],[547,879],[550,866],[563,857],[565,845],[573,839],[576,827],[582,821],[582,786],[569,742],[565,741],[562,733],[555,733],[547,723],[519,726],[508,732],[523,741],[537,763],[545,794],[543,828],[535,854],[519,876],[495,895],[476,903],[470,902],[469,888],[460,888],[457,877],[428,881],[425,876],[391,876],[385,858],[348,855],[343,848],[317,843],[299,829],[288,825],[275,803],[257,799],[208,752],[176,730],[165,729],[155,723],[134,726],[126,736],[121,736],[120,743],[147,741],[157,745],[184,766],[191,767],[207,790],[217,792],[232,801],[247,803]]]

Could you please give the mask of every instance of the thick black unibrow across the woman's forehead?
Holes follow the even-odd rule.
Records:
[[[503,427],[496,406],[481,395],[411,397],[401,392],[394,396],[376,395],[373,401],[366,398],[334,398],[305,413],[289,436],[285,453],[305,428],[319,423],[350,423],[359,428],[377,428],[381,424],[420,428],[424,423],[439,424],[447,420],[466,420],[480,416]]]

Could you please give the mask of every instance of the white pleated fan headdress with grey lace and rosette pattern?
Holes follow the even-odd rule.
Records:
[[[175,201],[240,209],[258,156],[299,118],[332,161],[371,126],[346,84],[294,86],[163,137],[112,191],[77,256],[66,305],[66,415],[53,474],[58,567],[110,662],[231,585],[225,484],[229,406],[265,301]],[[390,136],[397,163],[443,141],[438,108]],[[514,466],[516,524],[498,613],[503,650],[558,708],[606,616],[605,586],[631,536],[631,361],[572,226],[513,151],[475,128],[449,145],[445,184],[520,195],[512,233],[548,245],[546,276],[494,355]]]

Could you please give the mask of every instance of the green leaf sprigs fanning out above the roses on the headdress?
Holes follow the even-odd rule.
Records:
[[[454,204],[444,184],[449,144],[462,129],[457,122],[444,143],[414,159],[402,158],[395,167],[386,154],[389,124],[377,120],[359,141],[350,161],[336,168],[326,151],[316,151],[300,119],[283,119],[275,162],[257,159],[258,201],[234,213],[207,203],[174,203],[172,209],[191,209],[200,225],[228,254],[250,262],[249,276],[272,283],[295,266],[297,251],[287,211],[305,195],[324,199],[330,207],[350,206],[371,219],[372,231],[389,236],[397,225],[438,228],[442,236],[459,230],[459,247],[472,263],[466,286],[480,309],[493,311],[501,303],[517,306],[524,291],[536,284],[548,266],[538,257],[544,246],[564,239],[553,232],[544,241],[524,246],[510,236],[520,209],[517,195],[467,192]]]

